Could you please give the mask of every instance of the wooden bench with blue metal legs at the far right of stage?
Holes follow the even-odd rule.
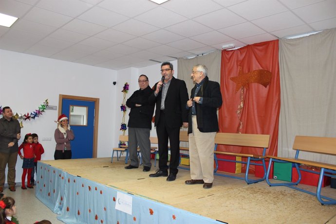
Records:
[[[329,197],[325,197],[321,195],[322,181],[324,176],[334,177],[336,178],[336,165],[321,163],[312,160],[304,160],[299,158],[299,152],[305,151],[309,153],[317,153],[317,154],[327,154],[327,155],[336,155],[336,138],[331,137],[313,137],[313,136],[296,136],[293,144],[293,149],[296,150],[296,154],[294,158],[281,158],[277,156],[267,156],[269,158],[269,164],[267,168],[267,175],[270,172],[270,168],[272,162],[280,162],[280,163],[293,163],[295,165],[296,171],[298,173],[299,179],[296,182],[286,182],[286,183],[271,183],[268,178],[266,178],[267,184],[272,186],[286,186],[291,187],[293,189],[297,189],[299,191],[315,195],[317,200],[321,203],[321,205],[331,205],[336,204],[336,199],[332,199]],[[300,168],[299,165],[308,165],[320,168],[320,171],[307,170],[305,168]],[[300,170],[308,171],[311,173],[319,174],[319,180],[317,185],[316,192],[311,192],[308,190],[301,189],[299,187],[295,187],[301,181],[301,173]],[[325,199],[325,200],[323,200]]]

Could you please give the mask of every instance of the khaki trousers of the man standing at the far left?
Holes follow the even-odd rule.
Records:
[[[15,166],[17,165],[18,152],[0,152],[0,187],[3,187],[6,180],[6,166],[8,164],[7,183],[9,187],[15,186]]]

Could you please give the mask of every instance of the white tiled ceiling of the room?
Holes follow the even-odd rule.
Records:
[[[336,27],[336,0],[0,0],[0,49],[120,70]]]

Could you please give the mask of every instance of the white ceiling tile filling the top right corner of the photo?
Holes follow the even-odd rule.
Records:
[[[325,0],[298,9],[293,12],[307,23],[336,17],[336,0]]]

